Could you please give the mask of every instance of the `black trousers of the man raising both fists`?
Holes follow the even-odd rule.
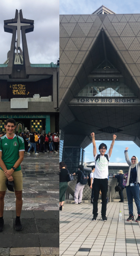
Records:
[[[102,217],[106,216],[106,195],[108,191],[108,179],[96,179],[93,180],[94,186],[94,199],[93,199],[93,216],[98,216],[98,199],[99,199],[99,191],[102,193]]]

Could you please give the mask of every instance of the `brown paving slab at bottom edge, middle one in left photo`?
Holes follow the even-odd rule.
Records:
[[[10,249],[10,256],[16,255],[41,255],[39,247],[28,247],[28,248],[11,248]]]

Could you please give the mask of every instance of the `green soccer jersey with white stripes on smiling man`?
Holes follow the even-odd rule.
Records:
[[[14,135],[12,139],[8,139],[7,136],[4,135],[1,137],[0,151],[2,151],[2,160],[6,165],[7,170],[10,170],[19,159],[19,151],[25,151],[23,138],[18,136],[17,139],[16,135]],[[1,167],[0,169],[3,170]],[[19,165],[15,172],[20,170],[21,165]]]

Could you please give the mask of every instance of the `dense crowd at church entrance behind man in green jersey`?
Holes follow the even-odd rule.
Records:
[[[0,132],[0,137],[3,137],[6,132]],[[54,153],[58,154],[59,150],[59,134],[58,132],[37,133],[37,132],[19,132],[15,133],[21,136],[24,140],[25,153],[30,155],[30,151],[34,154],[38,153]],[[38,152],[38,153],[37,153]]]

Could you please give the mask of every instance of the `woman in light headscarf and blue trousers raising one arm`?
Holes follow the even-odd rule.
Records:
[[[128,156],[128,147],[125,148],[125,160],[129,165],[128,179],[126,183],[126,194],[128,198],[129,217],[127,221],[134,220],[133,198],[137,207],[138,217],[136,222],[140,222],[140,162],[136,156]]]

